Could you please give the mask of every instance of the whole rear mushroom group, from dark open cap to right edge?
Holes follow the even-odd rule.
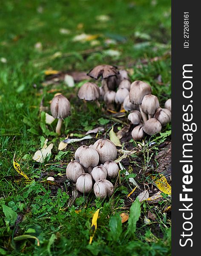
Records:
[[[135,125],[132,130],[133,140],[141,140],[145,134],[157,134],[162,126],[171,121],[171,99],[161,108],[157,96],[152,95],[150,85],[144,81],[131,83],[126,70],[118,71],[114,66],[98,65],[88,75],[94,79],[102,79],[100,88],[94,83],[91,84],[94,91],[99,89],[100,98],[109,110],[115,110],[116,104],[121,105],[121,110],[130,112],[128,119]],[[83,87],[85,86],[84,84]]]

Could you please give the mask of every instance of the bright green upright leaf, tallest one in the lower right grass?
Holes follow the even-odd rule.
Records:
[[[141,213],[141,203],[138,198],[135,199],[135,201],[132,203],[132,206],[130,207],[130,214],[129,214],[129,221],[128,221],[128,229],[126,232],[127,234],[134,234],[136,231],[136,223],[140,217]]]

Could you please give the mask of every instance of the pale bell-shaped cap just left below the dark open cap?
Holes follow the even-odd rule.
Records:
[[[87,101],[98,99],[100,97],[98,85],[95,83],[86,82],[80,87],[78,97]]]

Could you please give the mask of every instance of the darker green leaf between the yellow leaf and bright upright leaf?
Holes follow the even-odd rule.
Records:
[[[116,213],[109,219],[109,228],[109,238],[111,238],[111,240],[117,241],[122,233],[121,217],[118,213]]]

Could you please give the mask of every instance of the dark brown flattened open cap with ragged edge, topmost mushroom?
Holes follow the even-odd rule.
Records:
[[[94,67],[92,70],[87,73],[87,76],[90,76],[94,79],[98,79],[101,77],[102,79],[106,79],[110,76],[118,75],[119,71],[117,67],[111,65],[98,65]]]

